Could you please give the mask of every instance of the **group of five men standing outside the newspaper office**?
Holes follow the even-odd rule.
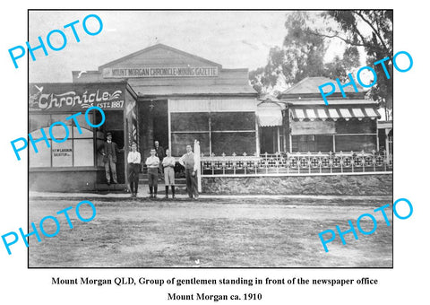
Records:
[[[132,150],[127,155],[128,173],[130,182],[130,192],[132,197],[137,196],[139,185],[139,172],[141,168],[141,153],[137,151],[137,144],[133,143]],[[116,179],[116,153],[122,153],[124,149],[118,149],[112,141],[112,134],[107,133],[107,141],[100,150],[105,164],[107,185],[112,181],[118,183]],[[179,163],[185,167],[186,190],[190,198],[198,199],[197,189],[197,169],[199,164],[194,161],[194,153],[191,145],[186,145],[186,153],[179,159]],[[172,157],[171,151],[166,151],[159,145],[159,141],[154,142],[154,147],[150,149],[150,157],[145,161],[148,169],[148,186],[150,187],[150,198],[157,198],[159,178],[165,181],[165,198],[168,198],[169,187],[172,190],[172,198],[175,198],[175,166],[176,159]]]

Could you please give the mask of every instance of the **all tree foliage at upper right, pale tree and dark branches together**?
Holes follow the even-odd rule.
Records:
[[[326,76],[346,80],[348,72],[359,65],[357,48],[364,48],[366,65],[374,67],[377,83],[370,96],[385,109],[392,108],[392,63],[387,79],[382,65],[374,62],[392,58],[392,10],[350,10],[288,13],[287,35],[282,48],[271,48],[268,64],[250,73],[251,83],[259,92],[270,92],[280,78],[289,86],[306,76]],[[345,43],[343,56],[324,62],[332,41]]]

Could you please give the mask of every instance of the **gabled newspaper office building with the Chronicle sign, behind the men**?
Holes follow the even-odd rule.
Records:
[[[85,137],[73,133],[70,142],[30,155],[30,189],[96,189],[104,182],[98,150],[107,132],[112,132],[118,147],[125,147],[117,161],[121,184],[127,182],[125,158],[132,142],[142,157],[149,155],[155,140],[175,157],[185,153],[186,144],[194,139],[207,156],[254,155],[260,150],[257,93],[248,83],[248,70],[225,69],[176,48],[159,44],[101,65],[97,71],[73,71],[73,83],[31,83],[30,132],[82,111],[82,103],[67,102],[47,109],[37,96],[41,87],[42,94],[75,92],[105,110],[106,122],[97,130],[88,127]],[[96,100],[104,92],[119,96]],[[65,184],[56,183],[58,179]]]

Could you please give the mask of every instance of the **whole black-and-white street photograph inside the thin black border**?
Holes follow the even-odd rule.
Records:
[[[29,35],[30,268],[393,266],[391,9],[30,10]]]

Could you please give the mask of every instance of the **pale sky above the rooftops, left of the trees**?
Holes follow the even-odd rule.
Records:
[[[99,15],[103,30],[90,36],[82,21],[90,13]],[[30,83],[72,82],[72,71],[97,70],[112,60],[142,48],[163,43],[193,55],[219,63],[224,68],[253,70],[267,63],[269,50],[282,46],[287,33],[286,11],[30,11],[29,43],[38,46],[50,30],[75,25],[64,30],[67,44],[60,51],[35,50],[30,59]],[[89,19],[90,30],[98,23]],[[61,46],[59,34],[51,36],[54,46]],[[336,45],[338,46],[338,45]],[[335,48],[340,48],[335,47]],[[334,52],[336,50],[334,49]]]

